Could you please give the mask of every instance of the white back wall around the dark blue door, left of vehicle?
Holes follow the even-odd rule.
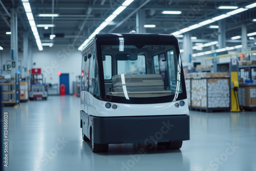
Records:
[[[46,78],[46,83],[58,83],[58,72],[69,74],[70,93],[72,91],[72,82],[76,80],[76,76],[81,71],[81,54],[77,48],[73,46],[65,47],[44,47],[43,51],[33,49],[33,68],[41,68],[41,72]]]

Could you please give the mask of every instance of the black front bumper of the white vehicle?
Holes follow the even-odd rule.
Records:
[[[147,143],[189,140],[189,116],[89,116],[95,143]]]

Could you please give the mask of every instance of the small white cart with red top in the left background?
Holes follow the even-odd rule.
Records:
[[[47,97],[48,89],[47,85],[44,83],[44,76],[41,74],[41,69],[32,69],[29,98],[31,100],[35,100],[37,98],[46,100]]]

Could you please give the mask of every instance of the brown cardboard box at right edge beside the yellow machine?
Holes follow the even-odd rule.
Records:
[[[256,106],[256,86],[241,86],[239,89],[244,89],[244,106],[254,107]]]

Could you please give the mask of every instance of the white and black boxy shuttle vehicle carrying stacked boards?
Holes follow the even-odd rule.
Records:
[[[179,149],[189,140],[177,38],[98,34],[81,54],[80,127],[93,152],[119,143]]]

